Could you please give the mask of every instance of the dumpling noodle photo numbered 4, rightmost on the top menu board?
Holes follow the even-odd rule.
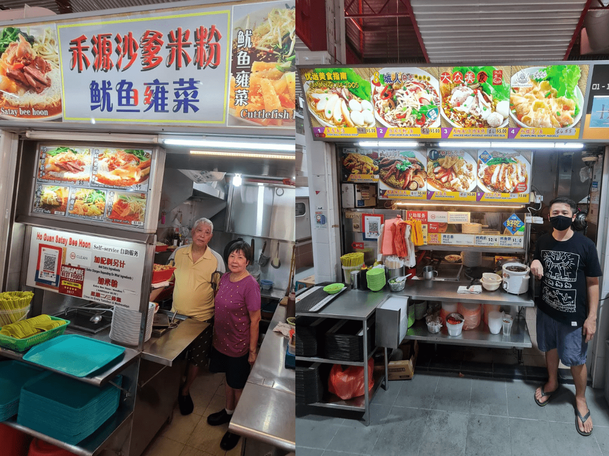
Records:
[[[582,117],[577,65],[529,67],[512,75],[510,115],[519,126],[564,128]]]

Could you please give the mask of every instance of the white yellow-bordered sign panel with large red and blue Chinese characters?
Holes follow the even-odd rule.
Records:
[[[64,119],[225,123],[229,27],[228,10],[57,26]]]

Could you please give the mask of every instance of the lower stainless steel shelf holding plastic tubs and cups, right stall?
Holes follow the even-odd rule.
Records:
[[[419,320],[408,329],[404,339],[415,339],[435,344],[472,345],[479,347],[532,347],[526,327],[526,320],[524,319],[514,320],[509,336],[505,336],[503,333],[491,334],[484,322],[481,322],[481,325],[474,330],[462,331],[459,336],[449,336],[446,326],[442,326],[442,330],[439,333],[432,334],[427,330],[425,321]]]

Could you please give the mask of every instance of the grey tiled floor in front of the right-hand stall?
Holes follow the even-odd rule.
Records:
[[[594,422],[590,437],[575,429],[573,385],[552,402],[533,401],[538,382],[417,373],[390,381],[362,414],[299,407],[298,456],[600,456],[609,455],[609,407],[602,390],[586,390]],[[311,414],[304,414],[312,412]]]

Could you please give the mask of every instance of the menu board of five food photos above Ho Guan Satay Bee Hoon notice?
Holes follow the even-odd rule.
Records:
[[[152,150],[40,145],[32,213],[143,229]]]

